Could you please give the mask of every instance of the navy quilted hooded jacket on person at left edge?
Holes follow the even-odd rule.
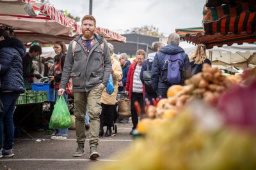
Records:
[[[24,92],[22,57],[25,53],[26,47],[18,39],[0,41],[1,91]]]

